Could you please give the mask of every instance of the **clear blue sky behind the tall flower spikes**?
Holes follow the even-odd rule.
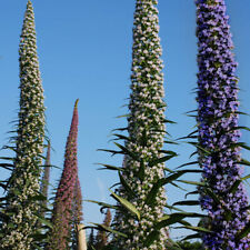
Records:
[[[108,188],[117,176],[98,171],[94,163],[121,164],[99,148],[113,148],[112,129],[126,126],[122,108],[130,93],[132,23],[134,0],[33,0],[38,53],[43,80],[47,127],[52,164],[63,166],[66,139],[73,103],[79,102],[79,176],[84,199],[111,201]],[[226,0],[239,62],[241,111],[250,113],[250,1]],[[17,118],[19,100],[18,46],[27,0],[0,1],[0,146],[8,142],[10,121]],[[184,112],[196,109],[197,39],[193,0],[159,0],[160,36],[163,47],[167,117],[178,122],[168,128],[173,138],[191,132],[194,120]],[[250,118],[241,119],[250,127]],[[250,137],[243,133],[243,141]],[[189,160],[192,148],[174,148],[180,157],[169,161],[174,168]],[[3,152],[0,152],[2,156]],[[6,173],[0,173],[0,177]],[[52,170],[52,183],[60,170]],[[191,177],[193,178],[193,177]],[[183,192],[168,188],[169,203]],[[83,203],[84,222],[101,222],[96,204]],[[173,237],[182,232],[173,232]]]

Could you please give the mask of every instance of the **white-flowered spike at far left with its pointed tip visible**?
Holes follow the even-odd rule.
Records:
[[[0,249],[29,250],[39,211],[39,178],[44,138],[43,89],[37,56],[34,14],[28,1],[19,49],[20,110],[13,171],[7,188],[7,214]]]

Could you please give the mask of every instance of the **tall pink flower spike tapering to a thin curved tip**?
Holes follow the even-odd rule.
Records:
[[[78,100],[73,109],[72,122],[66,144],[64,166],[58,186],[49,250],[68,249],[71,237],[72,206],[78,179]]]

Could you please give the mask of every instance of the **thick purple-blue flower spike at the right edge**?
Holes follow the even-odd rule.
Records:
[[[249,221],[242,183],[237,63],[224,0],[197,0],[199,163],[207,188],[200,202],[208,212],[208,249],[242,250],[250,238],[239,232]],[[212,194],[213,193],[213,194]]]

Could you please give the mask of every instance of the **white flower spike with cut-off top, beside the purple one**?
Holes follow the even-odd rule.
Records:
[[[124,171],[120,174],[123,179],[121,182],[126,181],[126,188],[130,187],[133,194],[128,194],[123,187],[118,194],[137,208],[140,219],[132,212],[124,211],[122,219],[119,219],[121,223],[114,221],[116,230],[128,236],[119,238],[117,247],[127,250],[161,250],[166,249],[168,240],[162,228],[159,229],[158,239],[147,246],[148,237],[162,218],[166,204],[163,187],[156,189],[156,200],[152,201],[149,196],[153,183],[164,177],[164,163],[153,163],[163,157],[161,149],[166,129],[157,3],[157,0],[137,0],[134,12],[129,138],[124,141],[129,153],[126,156]]]

